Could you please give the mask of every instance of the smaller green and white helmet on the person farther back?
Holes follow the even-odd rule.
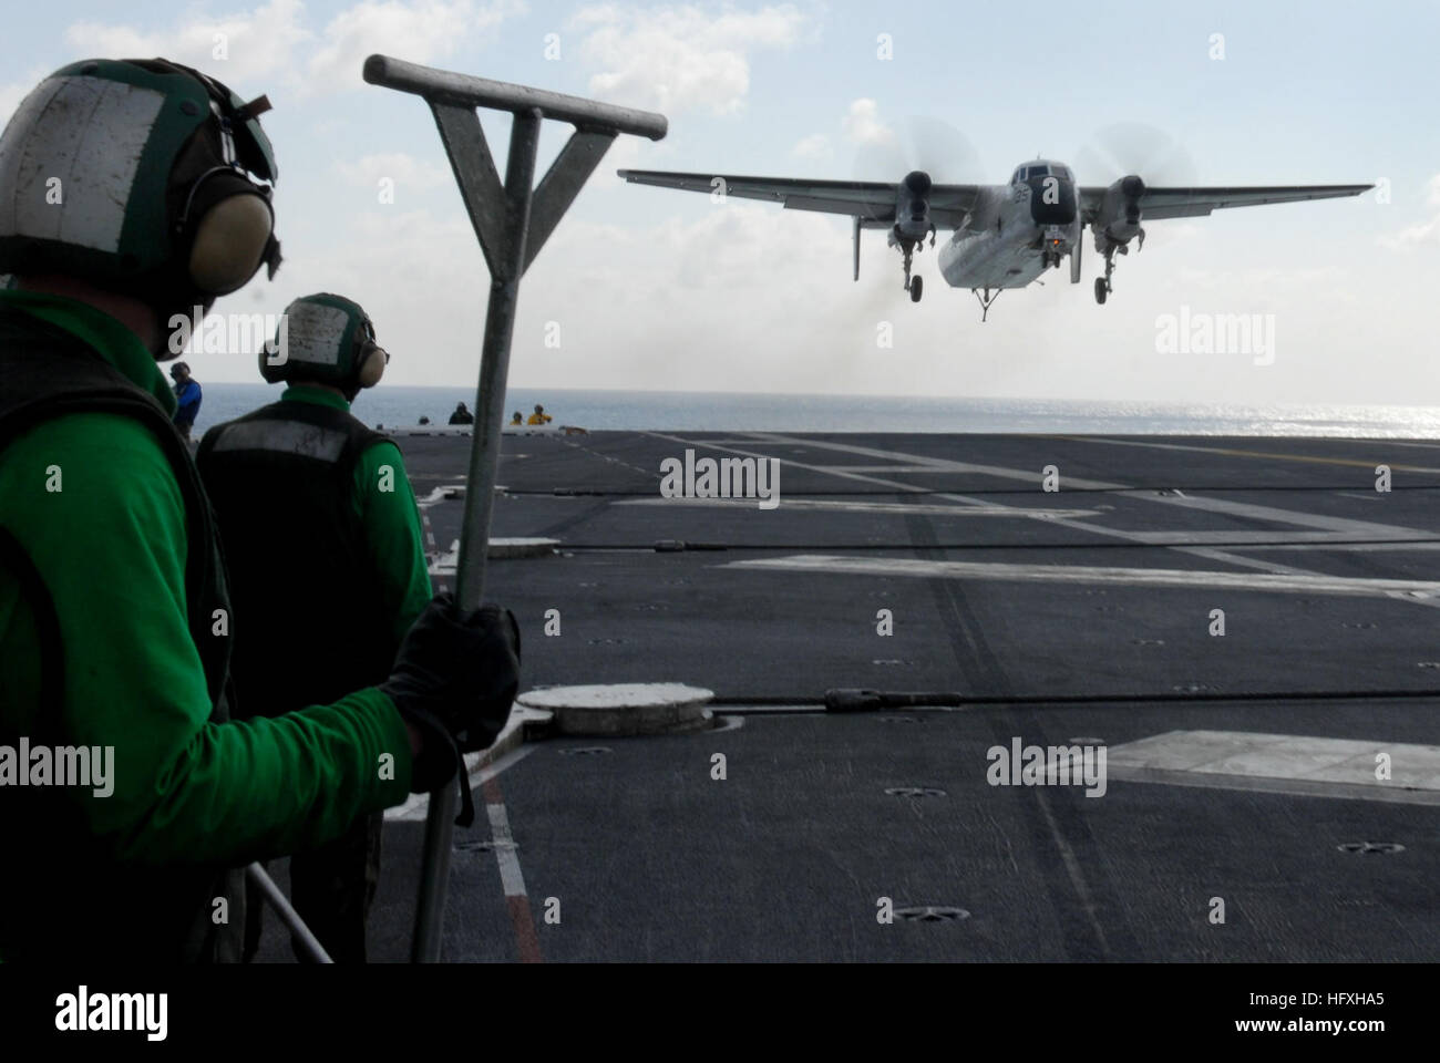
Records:
[[[359,302],[317,292],[285,307],[275,340],[261,351],[268,382],[315,380],[344,390],[374,387],[390,356]]]

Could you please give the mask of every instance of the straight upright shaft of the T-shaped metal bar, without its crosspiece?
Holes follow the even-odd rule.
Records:
[[[495,501],[500,465],[500,429],[505,423],[505,380],[510,374],[510,340],[516,328],[516,302],[526,268],[526,236],[530,230],[530,200],[534,186],[536,150],[540,145],[540,111],[516,114],[510,127],[510,157],[505,160],[505,239],[492,254],[490,308],[480,356],[480,385],[475,390],[475,434],[471,436],[469,472],[465,477],[465,523],[459,537],[459,605],[478,608],[485,591],[485,556],[490,552],[490,516]],[[461,763],[461,772],[465,765]],[[425,815],[425,866],[415,912],[410,959],[433,964],[439,959],[441,923],[449,884],[451,833],[455,818],[455,788],[431,794]]]

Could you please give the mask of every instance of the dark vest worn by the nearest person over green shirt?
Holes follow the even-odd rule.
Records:
[[[186,609],[190,638],[204,667],[210,722],[229,719],[230,640],[213,632],[216,609],[229,615],[225,565],[210,507],[184,441],[150,395],[63,328],[29,314],[0,311],[0,452],[17,436],[71,413],[118,413],[154,435],[170,462],[186,511]],[[104,461],[96,455],[96,461]],[[104,514],[101,514],[104,516]],[[101,534],[104,529],[101,529]],[[20,542],[0,513],[0,568],[30,608],[40,641],[40,706],[32,742],[69,745],[62,719],[66,660],[84,660],[84,647],[66,647],[55,602]],[[117,624],[128,622],[117,616]],[[117,690],[115,697],[125,697]],[[76,712],[84,712],[78,706]],[[135,706],[135,726],[145,706]],[[0,742],[13,743],[12,723],[0,720]],[[78,809],[53,788],[6,794],[0,838],[23,874],[3,876],[0,905],[9,915],[33,913],[53,958],[132,955],[160,962],[233,962],[245,925],[243,871],[213,866],[132,867],[108,861],[91,843]],[[22,863],[23,858],[23,863]],[[223,897],[228,920],[213,919]],[[16,907],[23,906],[23,907]],[[73,942],[73,943],[72,943]]]

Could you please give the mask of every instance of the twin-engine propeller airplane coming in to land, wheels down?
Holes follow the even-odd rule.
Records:
[[[1269,187],[1148,187],[1130,174],[1109,187],[1077,186],[1068,166],[1037,158],[1015,167],[1009,184],[935,184],[914,170],[899,184],[884,181],[812,181],[789,177],[619,170],[634,184],[706,192],[780,203],[789,210],[850,215],[854,220],[855,279],[860,279],[860,230],[886,229],[904,258],[904,290],[919,302],[923,278],[912,278],[912,256],[935,246],[937,229],[955,235],[940,248],[940,277],[969,288],[981,320],[1005,288],[1024,288],[1045,269],[1070,258],[1070,282],[1080,282],[1084,226],[1104,255],[1104,277],[1094,278],[1094,301],[1113,291],[1115,254],[1145,246],[1140,219],[1204,217],[1211,210],[1261,203],[1358,196],[1371,184],[1279,184]],[[982,294],[984,292],[984,294]]]

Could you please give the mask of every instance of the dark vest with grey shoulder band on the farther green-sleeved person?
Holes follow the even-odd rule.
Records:
[[[384,438],[344,411],[295,400],[204,434],[196,462],[235,588],[239,714],[331,704],[389,677],[393,616],[353,497],[360,455]]]

